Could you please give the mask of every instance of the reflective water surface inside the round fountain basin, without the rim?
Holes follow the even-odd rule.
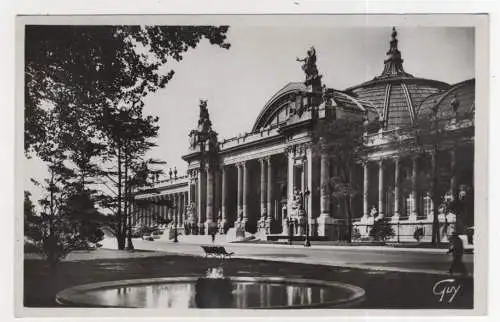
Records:
[[[87,304],[141,308],[271,308],[315,305],[349,295],[348,291],[332,286],[199,279],[93,290],[76,295],[78,298],[75,300]]]

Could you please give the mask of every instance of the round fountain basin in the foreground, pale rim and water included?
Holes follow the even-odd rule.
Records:
[[[365,291],[354,285],[282,277],[169,277],[79,285],[56,301],[72,307],[293,309],[352,307]]]

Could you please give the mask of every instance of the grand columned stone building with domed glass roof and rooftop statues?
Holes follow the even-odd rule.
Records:
[[[419,184],[429,178],[432,156],[409,153],[394,141],[400,142],[397,138],[417,120],[437,115],[446,138],[454,137],[438,145],[437,169],[445,187],[440,199],[473,200],[475,80],[447,84],[407,73],[394,29],[382,72],[361,84],[342,90],[322,84],[314,48],[303,64],[305,81],[290,82],[275,93],[244,135],[219,138],[208,102],[200,101],[182,157],[187,173],[170,170],[166,180],[154,183],[154,191],[135,197],[168,199],[174,207],[139,210],[133,222],[168,223],[185,235],[217,232],[229,238],[243,232],[273,239],[291,229],[296,237],[342,239],[346,205],[322,189],[335,164],[328,155],[313,153],[311,144],[318,122],[359,118],[377,126],[365,126],[365,153],[353,164],[352,180],[360,187],[350,202],[353,239],[367,237],[374,222],[390,218],[392,240],[414,240],[418,228],[422,239],[430,240],[434,207],[446,239],[457,216],[434,205],[428,185]],[[469,210],[465,226],[473,226],[473,216]]]

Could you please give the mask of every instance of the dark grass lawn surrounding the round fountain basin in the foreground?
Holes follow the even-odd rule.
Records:
[[[70,254],[68,260],[62,262],[54,273],[50,272],[45,261],[36,256],[26,256],[24,305],[57,306],[55,295],[79,284],[135,278],[201,276],[208,268],[218,265],[223,266],[228,276],[286,276],[355,284],[366,290],[366,300],[360,305],[361,308],[470,309],[473,305],[471,278],[457,278],[457,283],[462,286],[455,300],[448,303],[440,302],[439,296],[433,295],[434,284],[446,276],[112,250]]]

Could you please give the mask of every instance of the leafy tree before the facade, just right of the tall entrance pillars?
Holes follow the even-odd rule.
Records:
[[[353,197],[361,192],[361,187],[354,180],[354,165],[363,154],[363,123],[358,119],[328,120],[318,124],[313,146],[315,155],[326,155],[333,170],[330,178],[321,189],[344,205],[346,212],[346,239],[352,241]]]

